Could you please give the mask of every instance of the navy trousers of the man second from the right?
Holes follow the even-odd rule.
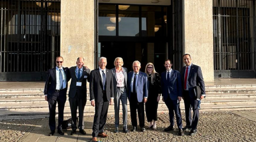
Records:
[[[170,126],[174,126],[175,112],[178,129],[182,129],[180,102],[177,103],[177,100],[171,100],[170,97],[168,96],[167,99],[165,100],[165,104],[169,110]]]

